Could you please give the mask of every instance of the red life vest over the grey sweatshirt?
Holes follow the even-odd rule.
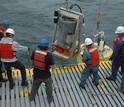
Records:
[[[0,43],[0,57],[4,59],[12,59],[15,54],[12,50],[12,43],[2,44]]]

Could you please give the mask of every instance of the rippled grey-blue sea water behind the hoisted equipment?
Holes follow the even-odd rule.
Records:
[[[112,46],[116,27],[124,25],[124,0],[67,1],[69,5],[77,3],[82,8],[85,15],[85,34],[91,38],[96,32],[96,11],[100,6],[100,29],[105,32],[106,44]],[[54,11],[65,6],[66,0],[0,0],[0,21],[11,21],[11,27],[16,31],[15,40],[33,50],[42,38],[51,43],[55,27]],[[29,65],[28,54],[21,54],[19,58],[26,66]]]

